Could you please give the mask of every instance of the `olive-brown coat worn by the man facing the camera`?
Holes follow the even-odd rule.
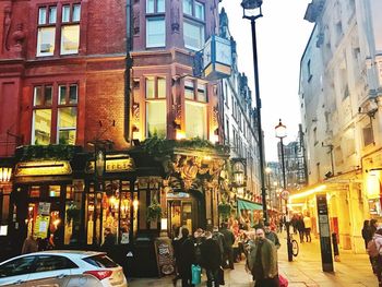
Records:
[[[271,240],[265,238],[262,243],[258,243],[255,241],[255,243],[253,244],[252,241],[250,246],[252,248],[250,254],[248,255],[248,266],[251,270],[254,278],[259,278],[259,276],[263,278],[274,278],[275,276],[277,276],[277,250],[275,244]],[[262,271],[255,267],[259,248],[261,248],[260,254]]]

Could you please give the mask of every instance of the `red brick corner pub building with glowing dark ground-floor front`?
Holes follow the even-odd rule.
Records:
[[[155,276],[162,229],[218,224],[219,87],[193,76],[218,2],[0,1],[2,256],[31,234],[98,249],[109,227]]]

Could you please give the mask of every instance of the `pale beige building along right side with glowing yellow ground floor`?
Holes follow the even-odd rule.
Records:
[[[315,194],[326,193],[331,231],[361,253],[363,220],[382,215],[381,11],[380,0],[313,0],[300,63],[309,186],[290,206],[310,212],[317,227]]]

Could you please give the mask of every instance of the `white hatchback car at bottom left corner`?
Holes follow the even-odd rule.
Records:
[[[52,250],[0,263],[0,286],[127,287],[122,267],[104,252]]]

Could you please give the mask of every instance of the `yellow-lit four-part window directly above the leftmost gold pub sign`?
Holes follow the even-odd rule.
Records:
[[[77,84],[44,84],[34,87],[32,144],[74,145],[76,118]]]

